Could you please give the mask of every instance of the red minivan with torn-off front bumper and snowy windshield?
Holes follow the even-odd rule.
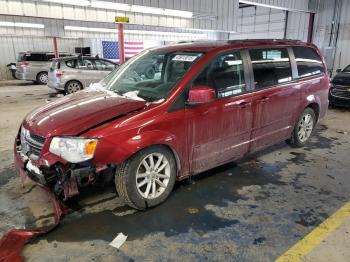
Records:
[[[156,61],[153,78],[138,73]],[[328,107],[320,52],[300,41],[146,50],[101,82],[29,113],[18,172],[61,199],[115,179],[126,204],[160,204],[176,180],[286,140],[303,146]]]

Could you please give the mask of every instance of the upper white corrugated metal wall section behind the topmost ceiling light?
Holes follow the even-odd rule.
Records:
[[[120,0],[112,2],[186,10],[193,12],[195,16],[192,19],[175,18],[61,5],[39,0],[0,0],[0,13],[96,22],[113,22],[114,17],[118,15],[128,16],[132,24],[236,31],[238,0]],[[74,3],[73,0],[72,3]],[[198,17],[198,14],[201,14],[201,16]]]

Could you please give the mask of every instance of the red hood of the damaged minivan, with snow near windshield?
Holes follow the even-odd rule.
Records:
[[[35,135],[77,135],[120,115],[142,109],[145,101],[106,91],[81,91],[39,107],[29,113],[24,127]]]

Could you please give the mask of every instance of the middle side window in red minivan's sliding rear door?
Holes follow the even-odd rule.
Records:
[[[255,88],[292,81],[292,69],[286,48],[251,49]]]

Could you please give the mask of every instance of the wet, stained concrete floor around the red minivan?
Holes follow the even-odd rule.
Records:
[[[15,174],[12,143],[25,114],[49,100],[47,88],[0,83],[0,235],[53,222],[45,193]],[[146,212],[123,206],[113,186],[89,188],[52,232],[27,244],[28,261],[272,261],[350,199],[350,110],[330,109],[308,144],[280,143],[177,183]],[[347,218],[305,261],[349,261]],[[128,236],[119,249],[108,245]]]

